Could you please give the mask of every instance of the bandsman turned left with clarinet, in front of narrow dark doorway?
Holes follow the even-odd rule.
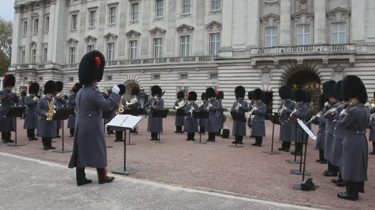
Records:
[[[254,100],[255,104],[251,105],[251,109],[254,109],[254,121],[252,127],[252,136],[255,137],[255,143],[252,143],[253,146],[262,146],[263,137],[266,137],[266,126],[264,122],[264,115],[267,112],[267,105],[264,104],[264,92],[263,90],[257,88],[254,90]]]

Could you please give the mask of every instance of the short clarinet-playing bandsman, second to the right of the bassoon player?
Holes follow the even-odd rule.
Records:
[[[195,132],[198,132],[198,119],[194,118],[194,112],[198,111],[198,104],[195,104],[197,95],[191,91],[187,94],[187,100],[190,102],[185,107],[186,121],[184,131],[187,132],[187,141],[195,141]]]

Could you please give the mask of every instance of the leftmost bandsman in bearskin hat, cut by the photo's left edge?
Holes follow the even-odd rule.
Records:
[[[14,140],[10,139],[10,132],[15,131],[16,118],[5,117],[9,109],[15,105],[15,103],[20,103],[17,91],[13,89],[16,84],[16,78],[13,74],[5,75],[3,79],[4,90],[0,91],[0,132],[1,140],[3,143],[13,143]]]

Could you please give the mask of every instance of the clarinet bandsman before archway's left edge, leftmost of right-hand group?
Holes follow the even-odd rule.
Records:
[[[278,109],[280,116],[280,141],[282,141],[281,148],[279,151],[289,152],[291,142],[294,142],[296,137],[295,129],[296,124],[293,121],[289,121],[290,114],[296,109],[297,104],[291,101],[293,96],[292,89],[289,86],[281,86],[279,88],[279,96],[281,98],[281,104]]]

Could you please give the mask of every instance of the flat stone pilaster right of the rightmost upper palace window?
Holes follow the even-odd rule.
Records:
[[[374,12],[374,11],[372,11]],[[365,0],[351,0],[351,43],[365,42]],[[374,27],[374,25],[369,26]]]

